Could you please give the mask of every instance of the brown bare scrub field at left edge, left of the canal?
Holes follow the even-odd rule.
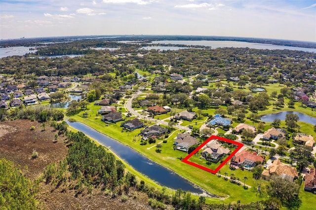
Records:
[[[1,122],[0,158],[20,166],[31,179],[43,173],[47,165],[64,159],[67,155],[66,137],[61,135],[57,142],[53,142],[57,131],[47,124],[43,129],[40,123],[30,120]],[[31,130],[31,126],[35,129]],[[33,151],[38,153],[37,158],[32,158]]]

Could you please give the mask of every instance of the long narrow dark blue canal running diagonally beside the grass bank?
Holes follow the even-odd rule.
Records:
[[[87,125],[84,125],[83,123],[69,121],[67,121],[67,123],[71,127],[102,143],[104,146],[111,149],[111,151],[113,151],[121,159],[123,159],[128,165],[132,166],[135,170],[142,173],[143,175],[146,175],[150,179],[157,181],[160,185],[171,189],[180,188],[182,190],[198,194],[203,192],[187,179],[139,154],[131,147],[126,146],[104,134],[101,134],[100,132],[90,128]],[[209,196],[215,197],[213,194],[209,194]]]

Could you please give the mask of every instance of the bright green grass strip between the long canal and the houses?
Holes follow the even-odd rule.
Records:
[[[250,203],[252,201],[256,200],[262,200],[263,198],[257,196],[255,192],[255,188],[252,187],[248,190],[242,189],[241,186],[238,186],[236,184],[232,184],[229,181],[225,181],[222,178],[218,178],[216,175],[210,174],[208,172],[205,172],[203,170],[197,169],[196,167],[190,166],[188,164],[185,164],[180,161],[179,158],[184,158],[187,156],[187,153],[179,151],[179,150],[173,150],[173,139],[178,134],[178,131],[174,132],[172,135],[169,136],[167,139],[167,143],[162,143],[161,152],[157,153],[156,148],[153,147],[151,149],[148,149],[149,147],[152,147],[155,144],[147,144],[147,145],[140,145],[140,138],[138,137],[138,134],[140,133],[140,129],[137,129],[132,132],[121,132],[122,129],[119,127],[120,123],[117,124],[110,124],[106,126],[105,123],[103,123],[100,118],[98,119],[91,119],[89,118],[82,118],[79,115],[75,115],[72,117],[73,119],[85,123],[88,126],[95,128],[101,133],[104,133],[116,140],[119,140],[120,142],[132,147],[139,153],[149,157],[150,159],[158,162],[159,164],[166,166],[179,175],[182,175],[185,178],[188,178],[193,183],[197,184],[198,186],[201,186],[205,190],[214,193],[216,195],[220,196],[227,196],[228,198],[224,200],[220,199],[214,199],[214,198],[208,198],[207,201],[211,203],[230,203],[230,202],[236,202],[237,200],[240,200],[241,203]],[[133,141],[133,139],[136,139],[136,141]],[[160,140],[157,140],[158,142]],[[238,171],[238,172],[237,172]],[[229,169],[228,165],[225,165],[221,169],[222,174],[228,173],[230,175],[231,173],[235,173],[236,177],[239,177],[240,180],[247,176],[247,184],[250,186],[254,185],[254,180],[252,179],[252,173],[248,171],[241,171],[236,170],[232,171]],[[229,185],[229,187],[227,186]]]

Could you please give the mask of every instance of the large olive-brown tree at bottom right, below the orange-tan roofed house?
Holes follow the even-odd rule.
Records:
[[[282,205],[288,209],[299,209],[302,204],[299,197],[300,186],[293,181],[288,181],[278,175],[272,175],[267,189],[271,197],[279,199]]]

